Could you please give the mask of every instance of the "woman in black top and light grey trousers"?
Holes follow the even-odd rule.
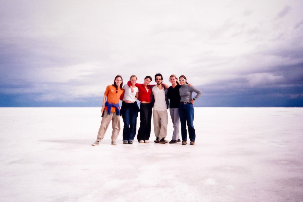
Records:
[[[177,143],[180,141],[180,117],[179,117],[179,104],[180,104],[180,94],[179,89],[181,85],[178,82],[178,78],[176,75],[171,75],[169,77],[169,82],[171,82],[171,86],[168,88],[168,99],[169,99],[169,113],[171,115],[171,121],[174,124],[174,132],[172,134],[172,140],[169,142]]]

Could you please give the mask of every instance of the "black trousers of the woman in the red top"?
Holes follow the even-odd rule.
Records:
[[[151,103],[140,104],[140,127],[138,130],[137,139],[149,140],[151,135]]]

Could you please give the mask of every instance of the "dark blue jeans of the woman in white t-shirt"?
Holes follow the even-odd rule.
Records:
[[[137,131],[138,117],[138,111],[136,106],[138,106],[137,103],[135,103],[135,105],[133,103],[123,103],[123,141],[134,141]]]

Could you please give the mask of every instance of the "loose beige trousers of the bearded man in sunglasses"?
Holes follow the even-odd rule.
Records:
[[[167,135],[168,114],[167,111],[152,111],[154,117],[154,132],[159,140],[165,138]]]

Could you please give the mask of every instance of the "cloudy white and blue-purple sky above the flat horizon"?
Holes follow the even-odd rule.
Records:
[[[300,0],[0,6],[0,107],[98,107],[121,75],[185,75],[197,107],[303,107]],[[152,81],[151,84],[155,84]]]

